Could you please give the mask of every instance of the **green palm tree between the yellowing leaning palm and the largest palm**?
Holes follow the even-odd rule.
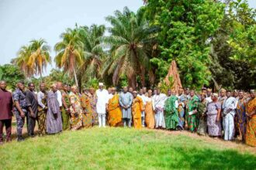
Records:
[[[80,36],[84,42],[84,58],[79,69],[81,76],[85,80],[90,80],[99,77],[99,72],[102,66],[102,61],[106,54],[100,45],[99,38],[104,35],[106,27],[101,25],[92,25],[88,27],[80,27]]]

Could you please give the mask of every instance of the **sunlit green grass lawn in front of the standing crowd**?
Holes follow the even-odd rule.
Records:
[[[256,156],[161,131],[92,128],[0,147],[0,169],[253,169]]]

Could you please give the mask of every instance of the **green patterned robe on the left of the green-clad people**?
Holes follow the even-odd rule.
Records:
[[[166,129],[176,129],[178,126],[178,97],[169,97],[164,104],[164,118]]]

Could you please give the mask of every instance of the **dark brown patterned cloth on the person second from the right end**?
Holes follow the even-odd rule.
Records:
[[[246,100],[245,98],[239,99],[237,102],[237,127],[240,132],[240,135],[242,136],[242,140],[245,139],[245,133],[246,133]]]

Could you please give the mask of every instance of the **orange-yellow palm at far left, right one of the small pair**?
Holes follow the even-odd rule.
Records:
[[[29,56],[28,67],[33,70],[33,73],[40,75],[42,79],[43,69],[47,68],[47,64],[51,63],[50,59],[50,46],[44,39],[33,39],[30,41],[33,53]]]

